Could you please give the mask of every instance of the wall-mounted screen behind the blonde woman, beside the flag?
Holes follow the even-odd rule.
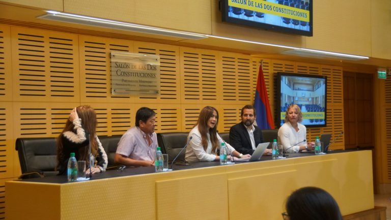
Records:
[[[278,73],[280,107],[277,118],[284,124],[285,112],[289,105],[297,104],[306,127],[326,127],[327,77],[296,73]],[[277,123],[278,124],[278,123]]]

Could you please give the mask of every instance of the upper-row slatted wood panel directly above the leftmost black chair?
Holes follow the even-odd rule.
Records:
[[[77,35],[11,31],[14,101],[79,101]]]

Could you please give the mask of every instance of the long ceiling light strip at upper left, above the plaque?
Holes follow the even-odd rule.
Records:
[[[186,39],[193,39],[193,40],[207,38],[206,35],[190,33],[190,32],[181,32],[179,30],[170,30],[170,29],[139,25],[139,24],[133,24],[133,23],[127,23],[121,21],[94,18],[89,16],[83,16],[83,15],[68,14],[68,13],[62,13],[56,11],[46,11],[46,12],[47,14],[39,16],[37,18],[62,21],[68,23],[85,24],[85,25],[97,26],[97,27],[106,27],[111,29],[130,30],[131,32],[164,35],[164,36],[179,37],[179,38],[186,38]]]

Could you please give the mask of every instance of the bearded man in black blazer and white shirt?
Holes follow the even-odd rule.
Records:
[[[244,106],[240,116],[242,121],[230,129],[230,144],[242,154],[253,154],[258,144],[264,142],[261,129],[253,124],[257,118],[254,106]],[[264,155],[270,153],[271,149],[266,149]]]

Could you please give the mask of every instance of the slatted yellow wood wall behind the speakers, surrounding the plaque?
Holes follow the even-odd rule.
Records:
[[[113,50],[159,55],[161,93],[111,96]],[[189,131],[206,105],[216,107],[218,130],[228,132],[240,121],[241,107],[253,103],[261,61],[273,112],[277,72],[324,75],[327,127],[308,129],[308,140],[344,130],[341,67],[0,24],[0,178],[20,174],[17,138],[58,136],[78,105],[95,108],[98,135],[123,134],[142,106],[156,111],[158,133]],[[344,139],[331,148],[344,148]]]

